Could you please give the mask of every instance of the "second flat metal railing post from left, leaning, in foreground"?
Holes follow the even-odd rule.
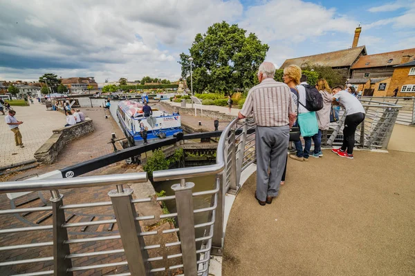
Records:
[[[147,261],[149,257],[144,249],[144,239],[140,237],[141,228],[136,220],[138,217],[136,206],[131,202],[133,190],[122,189],[121,185],[117,185],[117,190],[111,190],[108,195],[111,197],[131,275],[149,275],[151,269]]]

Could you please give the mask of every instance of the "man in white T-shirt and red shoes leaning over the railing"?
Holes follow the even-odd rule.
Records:
[[[353,148],[355,144],[356,128],[365,120],[365,108],[358,98],[351,95],[342,86],[333,88],[333,103],[340,103],[346,110],[346,119],[344,120],[343,144],[341,148],[334,149],[333,152],[340,157],[353,159]],[[347,150],[347,152],[346,152]]]

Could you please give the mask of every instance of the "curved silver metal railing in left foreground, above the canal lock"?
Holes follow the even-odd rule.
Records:
[[[177,180],[177,184],[172,186],[174,195],[133,198],[133,190],[124,186],[131,182],[147,181],[146,172],[3,182],[0,186],[2,194],[31,191],[34,193],[29,195],[39,193],[39,197],[44,199],[50,193],[51,197],[42,201],[40,206],[37,202],[39,197],[35,197],[37,201],[28,199],[23,204],[16,204],[17,201],[13,199],[10,208],[0,210],[1,219],[10,221],[10,224],[3,224],[10,227],[0,229],[0,274],[82,275],[91,273],[91,270],[93,273],[101,271],[104,274],[103,269],[128,266],[118,275],[157,275],[166,273],[167,270],[185,275],[208,275],[210,255],[221,255],[223,250],[225,194],[237,193],[241,172],[255,158],[253,120],[235,119],[221,133],[216,164],[153,173],[154,181]],[[194,187],[198,184],[187,179],[208,175],[215,175],[214,188],[194,192]],[[111,185],[115,185],[116,189],[109,189],[109,201],[82,201],[82,195],[87,189],[93,187],[95,190]],[[76,204],[65,205],[64,196]],[[210,205],[194,208],[194,198],[203,196],[211,197]],[[154,201],[174,201],[176,213],[139,215],[141,204]],[[102,211],[100,208],[105,208],[105,218],[76,219],[70,213],[72,210],[93,213],[94,208],[98,208],[97,212]],[[201,213],[205,213],[208,220],[196,223],[194,216]],[[33,218],[32,221],[28,217]],[[174,226],[164,230],[145,230],[141,225],[144,221],[160,222],[165,219],[175,219]],[[79,229],[82,232],[86,228],[102,228],[104,225],[113,228],[112,233],[91,233],[96,235],[85,237],[79,232]],[[178,236],[174,242],[149,244],[147,239],[172,233]],[[196,233],[203,235],[198,236]],[[22,242],[27,240],[26,237],[30,237],[29,241]],[[116,246],[105,246],[113,243]],[[96,247],[95,244],[103,246]],[[88,250],[90,247],[93,250]],[[171,253],[170,248],[176,248],[176,251]],[[155,249],[164,251],[165,254],[154,254]],[[111,255],[118,258],[114,262],[107,262]],[[102,261],[104,257],[107,257],[103,259],[105,262]],[[165,262],[165,265],[154,265],[160,264],[160,261]]]

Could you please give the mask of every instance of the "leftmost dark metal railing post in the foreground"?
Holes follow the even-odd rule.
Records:
[[[68,268],[72,268],[71,259],[66,259],[66,255],[71,253],[69,244],[64,244],[64,241],[68,239],[68,231],[63,228],[65,223],[65,213],[60,206],[64,204],[63,195],[59,195],[58,190],[51,190],[52,197],[50,202],[52,203],[53,211],[53,267],[55,276],[72,276],[72,272],[66,272]]]

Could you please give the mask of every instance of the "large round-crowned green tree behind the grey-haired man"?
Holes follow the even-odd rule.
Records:
[[[190,83],[190,61],[193,58],[193,90],[201,92],[228,92],[234,88],[250,88],[255,83],[255,73],[264,61],[268,45],[261,43],[253,33],[237,24],[225,21],[214,23],[205,34],[196,34],[190,55],[181,53],[178,63],[182,77]],[[198,70],[199,69],[199,70]],[[209,75],[208,81],[203,77]]]

